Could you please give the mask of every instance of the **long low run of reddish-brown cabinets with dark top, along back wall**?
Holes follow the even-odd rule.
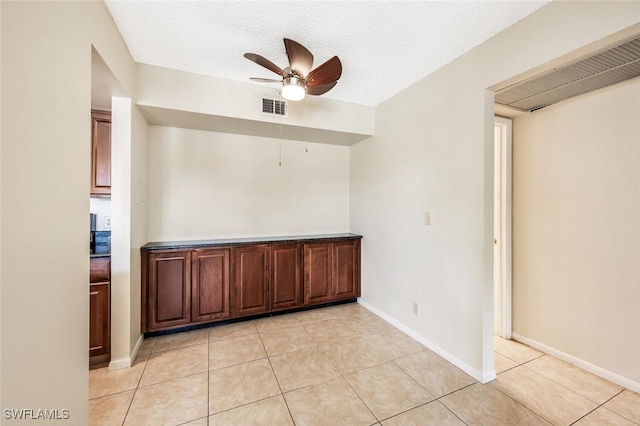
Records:
[[[142,331],[356,298],[361,238],[149,243],[141,248]]]

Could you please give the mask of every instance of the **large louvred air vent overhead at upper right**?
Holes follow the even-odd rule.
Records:
[[[496,92],[495,101],[535,111],[640,76],[640,36]]]

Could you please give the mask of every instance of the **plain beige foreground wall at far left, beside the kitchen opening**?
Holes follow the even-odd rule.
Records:
[[[135,65],[102,2],[0,10],[1,406],[87,424],[92,45],[130,93]]]

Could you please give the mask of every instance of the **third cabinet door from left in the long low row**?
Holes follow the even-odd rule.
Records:
[[[238,247],[234,258],[234,315],[266,312],[269,308],[269,246]]]

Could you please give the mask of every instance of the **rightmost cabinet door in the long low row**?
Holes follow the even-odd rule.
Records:
[[[360,296],[360,241],[333,243],[333,299]]]

